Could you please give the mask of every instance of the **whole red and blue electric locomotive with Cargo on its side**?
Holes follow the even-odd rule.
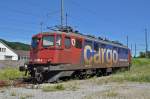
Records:
[[[20,70],[42,83],[65,76],[107,74],[116,68],[129,68],[130,64],[131,54],[126,46],[67,27],[34,35],[30,61]]]

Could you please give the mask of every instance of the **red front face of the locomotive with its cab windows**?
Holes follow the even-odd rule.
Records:
[[[62,35],[44,33],[33,36],[30,51],[30,64],[47,65],[57,63],[62,49]],[[57,57],[56,57],[57,56]]]

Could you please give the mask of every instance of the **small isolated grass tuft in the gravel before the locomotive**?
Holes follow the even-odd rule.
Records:
[[[65,90],[65,87],[62,84],[56,84],[53,86],[45,86],[42,88],[44,92],[53,92],[53,91],[62,91]]]

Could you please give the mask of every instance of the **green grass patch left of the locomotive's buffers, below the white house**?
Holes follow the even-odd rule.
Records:
[[[15,80],[24,76],[18,68],[7,67],[0,70],[0,80]]]

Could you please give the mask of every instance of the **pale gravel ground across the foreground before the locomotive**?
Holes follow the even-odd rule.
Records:
[[[42,90],[43,87],[58,84],[65,89],[49,92]],[[150,99],[150,83],[98,84],[91,80],[74,80],[57,84],[29,84],[0,88],[0,99]]]

